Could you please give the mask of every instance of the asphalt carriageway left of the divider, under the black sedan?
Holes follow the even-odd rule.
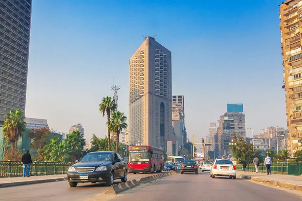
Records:
[[[151,176],[156,173],[128,174],[128,180]],[[115,183],[121,182],[120,179]],[[85,200],[99,193],[104,193],[109,187],[105,184],[79,183],[77,187],[69,187],[68,181],[22,185],[0,188],[0,200],[48,201],[48,200]]]

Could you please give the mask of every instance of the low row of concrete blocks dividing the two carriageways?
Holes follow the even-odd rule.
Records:
[[[126,183],[122,182],[119,184],[113,184],[109,187],[109,189],[105,192],[105,194],[118,194],[120,192],[126,191],[130,188],[134,188],[135,186],[139,186],[140,184],[149,183],[150,181],[155,181],[159,178],[174,175],[176,172],[167,172],[167,173],[160,173],[155,174],[152,176],[142,177],[139,182],[137,182],[135,179],[131,181],[126,181]]]

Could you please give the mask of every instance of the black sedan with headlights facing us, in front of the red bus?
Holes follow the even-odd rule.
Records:
[[[84,182],[106,183],[110,186],[115,179],[127,181],[127,163],[116,152],[91,152],[69,167],[67,178],[70,187]]]

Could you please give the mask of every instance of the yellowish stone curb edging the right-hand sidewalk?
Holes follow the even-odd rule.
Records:
[[[245,175],[245,174],[239,174],[238,177],[243,178],[243,179],[263,182],[263,183],[273,185],[273,186],[279,186],[279,187],[288,188],[288,189],[292,189],[292,190],[302,191],[302,185],[285,183],[285,182],[280,182],[280,181],[275,181],[275,180],[270,180],[270,179],[263,179],[263,178],[259,178],[256,176],[250,176],[250,175]]]

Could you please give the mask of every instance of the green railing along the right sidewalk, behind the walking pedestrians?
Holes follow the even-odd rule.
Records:
[[[236,165],[236,169],[242,170],[242,164]],[[255,165],[248,164],[247,171],[255,172]],[[264,164],[259,165],[259,172],[266,173],[266,166]],[[274,174],[288,174],[300,176],[302,174],[302,163],[273,163],[271,165],[271,172]]]

